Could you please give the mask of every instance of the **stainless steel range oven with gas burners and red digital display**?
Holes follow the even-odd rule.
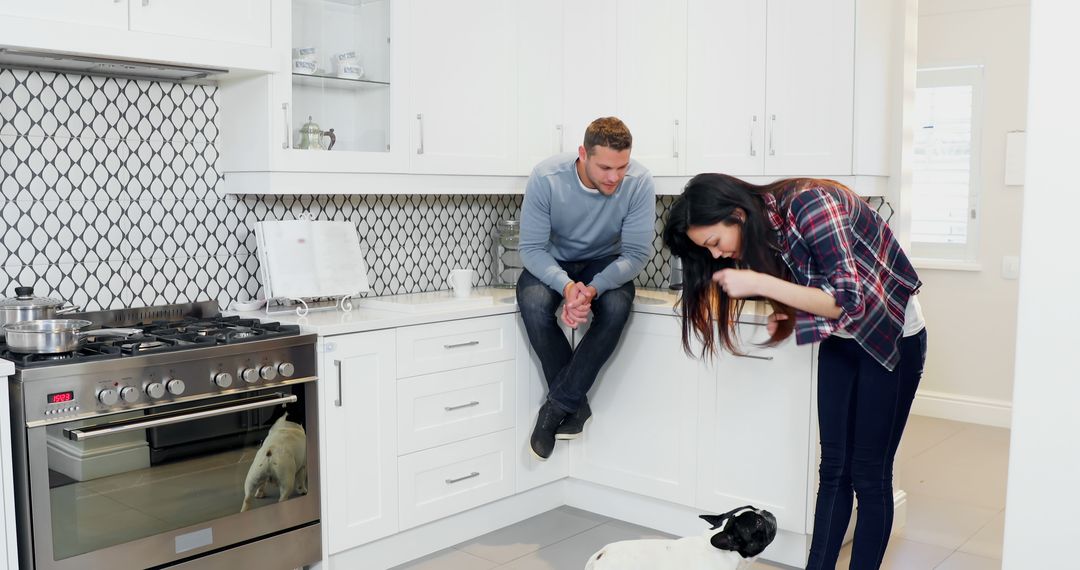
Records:
[[[91,338],[78,353],[48,358],[0,344],[0,357],[16,363],[21,567],[234,570],[319,560],[315,337],[220,317],[216,303],[78,316],[143,334]],[[293,460],[292,488],[267,485],[241,512],[245,480],[264,472],[256,457],[282,416],[301,430],[288,449],[302,440],[306,465]]]

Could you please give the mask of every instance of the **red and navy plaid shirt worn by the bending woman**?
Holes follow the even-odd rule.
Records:
[[[765,194],[765,202],[795,282],[832,295],[842,310],[839,318],[797,311],[796,342],[842,328],[888,370],[895,368],[907,300],[922,283],[889,226],[854,192],[833,186],[786,190],[780,204]]]

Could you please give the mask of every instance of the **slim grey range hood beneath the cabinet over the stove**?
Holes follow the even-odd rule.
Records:
[[[228,69],[108,59],[82,54],[36,52],[10,48],[0,48],[0,67],[156,81],[190,81],[229,72]]]

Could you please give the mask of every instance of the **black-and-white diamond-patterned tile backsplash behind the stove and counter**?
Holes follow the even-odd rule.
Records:
[[[455,266],[490,283],[490,235],[521,196],[224,195],[218,112],[214,86],[0,68],[0,296],[227,306],[259,295],[252,223],[305,212],[356,225],[373,295],[445,289]],[[658,253],[637,283],[665,275]]]

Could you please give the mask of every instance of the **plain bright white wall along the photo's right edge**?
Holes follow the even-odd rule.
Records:
[[[1026,256],[1020,275],[1016,390],[1002,568],[1077,568],[1080,539],[1080,2],[1034,0],[1028,105]]]

